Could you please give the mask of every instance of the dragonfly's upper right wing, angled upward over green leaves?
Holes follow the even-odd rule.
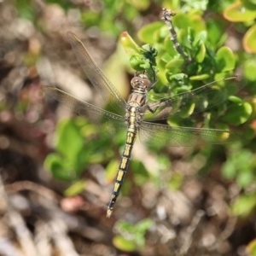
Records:
[[[182,111],[190,114],[204,112],[226,101],[229,96],[236,94],[246,84],[246,79],[234,76],[214,81],[189,92],[163,98],[158,102],[150,102],[147,105],[144,119],[166,119]]]

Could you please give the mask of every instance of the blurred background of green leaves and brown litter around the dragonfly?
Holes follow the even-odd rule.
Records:
[[[177,13],[172,21],[187,60],[173,48],[164,7]],[[255,17],[253,0],[0,1],[0,254],[256,255]],[[102,133],[40,89],[56,86],[106,107],[67,31],[125,99],[135,72],[120,44],[125,31],[158,51],[150,99],[243,76],[236,96],[207,113],[186,109],[186,119],[167,120],[237,131],[241,140],[195,148],[138,142],[106,218],[123,132]]]

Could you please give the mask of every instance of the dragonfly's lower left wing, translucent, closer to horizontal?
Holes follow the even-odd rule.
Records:
[[[127,125],[125,124],[124,117],[97,108],[90,103],[80,101],[75,97],[67,94],[63,90],[56,89],[51,86],[42,86],[42,90],[49,96],[53,96],[57,101],[65,104],[68,108],[73,109],[75,113],[88,117],[91,122],[101,124],[102,129],[115,134],[117,131],[126,131]]]

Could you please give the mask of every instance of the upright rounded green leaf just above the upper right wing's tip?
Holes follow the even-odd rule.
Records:
[[[234,70],[236,66],[235,55],[232,50],[227,46],[223,46],[218,49],[215,59],[219,72]]]

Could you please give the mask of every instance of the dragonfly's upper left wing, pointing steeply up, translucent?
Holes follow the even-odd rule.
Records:
[[[83,67],[84,73],[86,73],[96,90],[98,90],[117,113],[124,114],[126,106],[125,100],[120,96],[119,91],[116,90],[113,84],[108,80],[100,67],[92,60],[82,41],[73,32],[67,32],[67,39],[81,67]]]

